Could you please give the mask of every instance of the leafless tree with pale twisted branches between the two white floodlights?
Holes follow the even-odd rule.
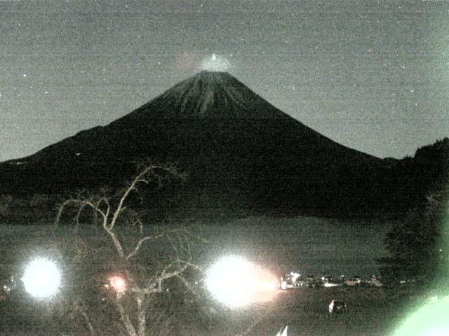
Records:
[[[192,262],[191,249],[192,241],[201,240],[199,235],[192,234],[186,228],[154,228],[142,221],[138,211],[130,209],[130,204],[140,195],[143,186],[161,186],[164,180],[173,177],[182,179],[174,169],[147,165],[126,188],[115,195],[108,195],[103,190],[97,195],[79,193],[65,200],[55,220],[55,225],[60,225],[67,214],[72,214],[76,225],[88,221],[106,234],[114,255],[105,255],[105,258],[116,260],[114,265],[119,265],[116,274],[124,281],[121,284],[123,288],[110,284],[114,294],[109,300],[113,302],[123,331],[128,336],[147,335],[149,302],[167,289],[166,283],[178,280],[186,290],[192,293],[196,290],[187,273],[190,269],[201,272],[200,267]],[[133,234],[124,235],[123,228],[133,230]],[[89,262],[91,250],[86,250],[85,244],[75,245],[77,252],[73,261]],[[148,260],[149,253],[142,251],[158,245],[163,246],[163,256]],[[101,247],[97,247],[98,251]],[[98,251],[96,253],[102,253]],[[95,335],[94,321],[88,314],[86,304],[75,300],[72,307],[82,316],[91,335]]]

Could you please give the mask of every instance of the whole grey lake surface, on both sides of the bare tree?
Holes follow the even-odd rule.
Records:
[[[197,260],[205,267],[222,255],[236,254],[276,275],[295,270],[316,276],[357,274],[364,278],[378,274],[376,259],[387,255],[382,239],[393,227],[393,223],[374,220],[268,216],[196,224],[208,240],[201,244]],[[67,228],[67,235],[70,232]],[[3,265],[25,262],[33,253],[51,253],[51,226],[0,225],[0,233]],[[93,237],[98,233],[101,229],[97,227],[84,234]],[[64,235],[64,229],[58,235]]]

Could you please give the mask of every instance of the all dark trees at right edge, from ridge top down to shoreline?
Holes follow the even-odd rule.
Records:
[[[410,161],[416,179],[410,185],[418,202],[385,237],[390,256],[379,260],[380,272],[389,284],[444,288],[449,276],[449,139],[419,148]]]

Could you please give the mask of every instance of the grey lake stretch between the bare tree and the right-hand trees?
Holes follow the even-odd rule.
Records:
[[[321,276],[378,274],[376,259],[387,255],[382,240],[392,223],[328,218],[252,217],[209,225],[208,258],[236,253],[283,274]]]

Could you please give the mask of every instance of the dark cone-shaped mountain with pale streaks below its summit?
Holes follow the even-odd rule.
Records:
[[[13,194],[119,186],[147,159],[187,173],[175,193],[196,209],[366,214],[405,209],[413,189],[397,162],[341,146],[209,71],[105,127],[4,162],[0,179]]]

